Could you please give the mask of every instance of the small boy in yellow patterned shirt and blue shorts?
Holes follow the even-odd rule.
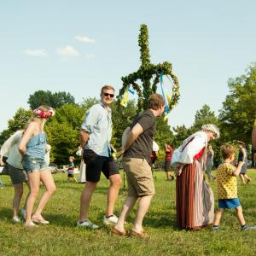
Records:
[[[240,161],[238,166],[232,166],[235,160],[236,150],[233,146],[225,144],[220,148],[224,163],[218,166],[217,183],[218,183],[218,212],[214,216],[212,231],[218,231],[218,224],[224,209],[236,209],[241,230],[256,229],[256,226],[246,224],[240,201],[237,197],[236,177],[239,176],[241,166],[244,162]]]

